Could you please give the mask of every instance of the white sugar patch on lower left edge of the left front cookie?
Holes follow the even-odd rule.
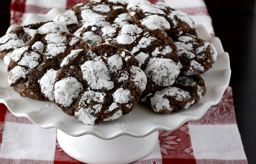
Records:
[[[7,73],[8,83],[12,85],[20,78],[26,78],[29,71],[21,66],[15,66],[10,72]]]

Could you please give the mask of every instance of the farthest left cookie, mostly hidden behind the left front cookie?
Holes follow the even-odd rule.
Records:
[[[0,38],[0,58],[5,58],[5,63],[8,65],[10,52],[24,46],[35,33],[46,34],[49,32],[69,32],[69,30],[65,25],[53,21],[18,26]]]

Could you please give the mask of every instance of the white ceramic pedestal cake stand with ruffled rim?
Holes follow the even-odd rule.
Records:
[[[32,15],[23,24],[28,25],[52,20],[63,9],[52,9],[46,15]],[[7,32],[17,25],[10,26]],[[207,81],[207,92],[202,101],[188,109],[170,114],[151,112],[143,104],[113,121],[95,126],[85,125],[49,101],[37,101],[20,97],[9,86],[7,66],[0,60],[0,103],[5,104],[17,117],[29,118],[41,128],[57,128],[61,148],[71,157],[89,164],[124,164],[137,161],[154,149],[158,141],[158,130],[172,131],[190,120],[201,118],[210,106],[218,104],[230,81],[229,55],[224,52],[221,41],[211,37],[204,26],[197,27],[199,37],[212,43],[217,52],[213,67],[203,74]]]

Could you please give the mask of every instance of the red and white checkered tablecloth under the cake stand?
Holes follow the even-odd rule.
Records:
[[[12,0],[11,24],[32,13],[45,14],[54,7],[69,9],[83,0]],[[157,0],[151,0],[156,2]],[[214,35],[203,0],[160,0],[191,15]],[[0,164],[80,164],[59,146],[56,129],[41,129],[27,118],[17,118],[0,104]],[[154,150],[133,164],[247,164],[236,124],[232,88],[198,121],[175,131],[160,131]]]

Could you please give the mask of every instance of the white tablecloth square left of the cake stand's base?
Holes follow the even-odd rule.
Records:
[[[53,161],[55,143],[56,129],[5,122],[0,158]]]

